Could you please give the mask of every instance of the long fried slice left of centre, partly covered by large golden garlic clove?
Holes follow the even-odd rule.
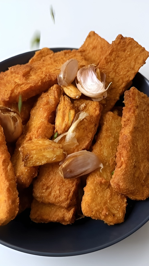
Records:
[[[26,141],[38,138],[50,138],[52,136],[56,108],[60,97],[61,87],[56,84],[38,98],[31,111],[27,128],[16,143],[16,150],[11,157],[11,161],[14,166],[17,182],[23,187],[30,185],[33,178],[37,175],[37,167],[25,167],[19,149]]]

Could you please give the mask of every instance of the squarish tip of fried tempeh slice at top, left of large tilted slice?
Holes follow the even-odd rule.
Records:
[[[110,48],[110,43],[101,38],[97,33],[89,32],[84,44],[79,48],[79,52],[83,55],[89,64],[98,66],[99,62],[106,55]]]

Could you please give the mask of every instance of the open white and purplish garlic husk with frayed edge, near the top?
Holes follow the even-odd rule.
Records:
[[[92,100],[101,101],[107,96],[105,89],[106,75],[102,73],[101,81],[97,78],[94,65],[84,66],[79,69],[76,77],[76,85],[79,91],[84,95],[91,97]]]

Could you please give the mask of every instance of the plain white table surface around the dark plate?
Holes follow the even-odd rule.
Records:
[[[148,10],[148,0],[0,0],[0,62],[30,51],[36,31],[41,32],[39,48],[79,48],[88,33],[95,31],[110,43],[118,34],[132,37],[149,51]],[[149,59],[139,72],[149,79]],[[148,266],[148,250],[149,222],[111,247],[73,257],[25,254],[0,244],[0,265]]]

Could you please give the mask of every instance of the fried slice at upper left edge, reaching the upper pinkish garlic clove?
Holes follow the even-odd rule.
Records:
[[[1,101],[6,104],[7,101],[18,102],[19,95],[22,96],[22,101],[26,101],[57,83],[56,74],[52,74],[47,68],[37,68],[34,64],[11,66],[9,70],[0,73]]]

